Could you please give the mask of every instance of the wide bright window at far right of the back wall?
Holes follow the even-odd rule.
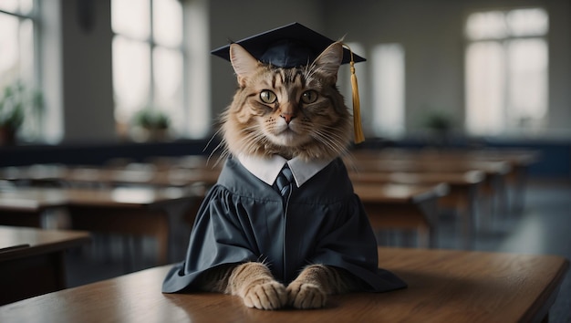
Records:
[[[466,21],[466,128],[474,135],[541,130],[547,113],[544,9],[474,13]]]

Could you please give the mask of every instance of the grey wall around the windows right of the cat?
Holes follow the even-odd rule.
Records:
[[[515,6],[543,6],[550,16],[549,128],[571,133],[571,7],[567,0],[331,0],[324,5],[330,35],[348,34],[367,51],[379,43],[405,49],[406,127],[414,130],[427,107],[447,109],[464,120],[463,24],[471,12]],[[368,53],[364,53],[368,55]],[[361,69],[367,69],[358,66]],[[367,72],[367,70],[365,71]],[[359,88],[371,93],[370,75]],[[362,99],[364,120],[371,115],[369,97]],[[369,103],[369,106],[368,106]],[[369,128],[369,124],[365,127]]]

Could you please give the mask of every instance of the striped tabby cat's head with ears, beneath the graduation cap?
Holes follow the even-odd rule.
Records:
[[[240,86],[223,115],[231,153],[311,160],[346,151],[351,122],[336,88],[340,43],[301,68],[263,64],[237,44],[230,47],[230,57]]]

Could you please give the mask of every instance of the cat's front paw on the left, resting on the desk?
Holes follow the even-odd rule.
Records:
[[[251,287],[244,295],[244,305],[259,309],[278,309],[287,303],[285,286],[272,281]]]

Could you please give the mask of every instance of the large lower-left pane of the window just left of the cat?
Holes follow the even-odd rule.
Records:
[[[116,118],[129,122],[130,116],[149,101],[151,50],[143,42],[122,36],[113,39],[113,88]]]

